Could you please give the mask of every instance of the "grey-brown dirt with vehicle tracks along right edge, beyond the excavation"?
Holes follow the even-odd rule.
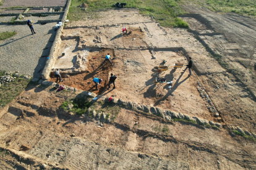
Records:
[[[255,20],[237,14],[219,15],[192,6],[187,10],[192,14],[184,16],[184,20],[202,39],[202,44],[222,55],[228,63],[229,73],[210,72],[202,76],[223,119],[255,129]]]

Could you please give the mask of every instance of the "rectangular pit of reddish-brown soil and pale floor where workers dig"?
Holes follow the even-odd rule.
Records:
[[[77,53],[69,54],[70,56],[75,56],[76,54],[75,57],[66,58],[68,60],[67,62],[69,62],[67,66],[69,67],[72,65],[70,63],[74,63],[72,60],[76,60],[76,63],[79,62],[77,59],[80,59],[81,61],[85,55],[86,62],[83,62],[84,65],[80,65],[80,67],[79,63],[77,63],[77,67],[64,68],[63,65],[59,65],[61,62],[58,63],[57,60],[57,65],[54,65],[54,68],[56,69],[58,66],[62,66],[60,69],[61,77],[62,79],[65,79],[63,82],[58,83],[70,87],[75,87],[83,91],[90,91],[95,92],[96,94],[101,94],[101,92],[104,91],[108,85],[110,74],[109,71],[112,70],[112,66],[109,62],[105,62],[104,64],[102,63],[105,60],[105,56],[107,54],[111,55],[112,57],[114,56],[113,49],[83,49],[77,50],[76,52]],[[93,78],[96,76],[100,76],[100,78],[103,79],[102,87],[98,86],[98,90],[96,90],[95,83],[93,83]],[[56,78],[54,78],[54,70],[51,72],[49,81],[56,82]]]

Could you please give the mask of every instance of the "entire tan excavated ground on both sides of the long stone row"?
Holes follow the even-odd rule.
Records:
[[[255,133],[254,98],[243,82],[211,57],[193,32],[162,28],[134,9],[85,14],[85,18],[88,20],[69,23],[63,30],[59,60],[54,66],[62,69],[65,81],[61,84],[93,91],[94,84],[89,82],[94,76],[108,82],[110,73],[114,73],[116,89],[108,89],[105,83],[96,93],[223,121],[224,128],[166,121],[125,107],[119,108],[111,123],[100,124],[96,118],[60,108],[78,92],[29,86],[0,112],[0,147],[10,152],[2,157],[1,167],[39,169],[46,164],[49,169],[256,169],[255,140],[236,136],[228,129],[233,125]],[[194,21],[202,35],[208,34],[207,25]],[[132,33],[121,36],[123,26]],[[61,56],[62,52],[66,55]],[[109,63],[100,66],[106,53],[115,58],[113,67]],[[79,56],[88,60],[84,70],[77,68]],[[173,69],[174,63],[185,63],[188,57],[194,60],[190,77],[188,70]],[[173,81],[171,89],[153,83],[157,75],[152,69],[163,60],[170,69],[160,76]],[[203,89],[202,94],[198,87]],[[100,103],[93,107],[112,114],[113,105],[103,108]],[[22,154],[16,159],[15,155]]]

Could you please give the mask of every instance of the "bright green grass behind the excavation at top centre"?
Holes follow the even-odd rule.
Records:
[[[97,18],[98,16],[94,12],[97,10],[114,9],[113,5],[116,2],[113,0],[72,0],[68,18],[69,20],[85,20],[92,16]],[[178,15],[185,13],[181,6],[179,6],[179,2],[181,0],[130,0],[126,2],[126,7],[139,9],[140,14],[155,18],[161,26],[187,28],[189,25],[181,18],[177,18]],[[82,3],[88,4],[87,10],[77,7]]]

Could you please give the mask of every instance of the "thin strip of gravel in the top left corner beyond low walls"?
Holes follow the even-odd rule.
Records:
[[[39,6],[65,6],[66,0],[5,0],[0,8],[6,7],[39,7]]]

